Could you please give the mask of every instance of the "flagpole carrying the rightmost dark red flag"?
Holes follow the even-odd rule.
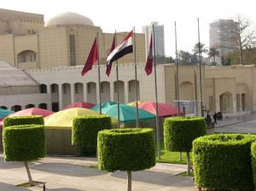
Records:
[[[153,27],[153,47],[154,47],[154,55],[155,55],[155,46],[154,46],[154,25]],[[153,56],[154,56],[153,55]],[[154,56],[154,93],[155,93],[155,109],[156,109],[156,116],[155,116],[155,127],[156,127],[156,144],[157,144],[157,157],[160,159],[160,135],[159,135],[159,110],[158,110],[158,96],[157,96],[157,83],[156,83],[156,62]]]

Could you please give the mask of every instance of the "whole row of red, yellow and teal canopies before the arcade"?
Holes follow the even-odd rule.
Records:
[[[131,105],[136,105],[135,103],[130,103],[129,105],[119,104],[119,120],[120,123],[131,123],[136,122],[136,107]],[[72,126],[73,119],[82,115],[98,115],[99,105],[94,105],[88,102],[77,102],[73,103],[67,107],[64,107],[62,111],[53,113],[49,110],[40,109],[36,107],[21,110],[20,112],[13,113],[9,110],[2,112],[0,110],[0,118],[9,116],[22,116],[22,115],[42,115],[44,116],[44,123],[46,126]],[[152,101],[139,102],[138,104],[138,116],[139,120],[154,119],[156,115],[156,103]],[[166,103],[158,103],[159,107],[159,117],[171,116],[177,114],[177,107],[172,107]],[[88,109],[90,108],[90,109]],[[118,105],[116,102],[107,101],[102,102],[102,113],[112,117],[113,124],[117,123],[118,119]],[[4,116],[5,115],[5,116]],[[48,116],[48,117],[47,117]],[[3,122],[0,122],[0,125]]]

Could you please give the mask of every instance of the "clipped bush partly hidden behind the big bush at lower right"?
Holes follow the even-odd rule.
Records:
[[[172,117],[165,119],[164,144],[168,151],[190,152],[195,138],[206,134],[204,118]]]

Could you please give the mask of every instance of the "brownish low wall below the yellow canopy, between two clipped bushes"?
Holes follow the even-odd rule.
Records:
[[[56,155],[81,155],[81,149],[72,146],[71,129],[45,127],[46,153]]]

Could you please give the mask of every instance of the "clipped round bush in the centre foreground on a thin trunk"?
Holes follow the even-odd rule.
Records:
[[[155,165],[152,129],[101,130],[97,144],[101,170],[142,171]]]

